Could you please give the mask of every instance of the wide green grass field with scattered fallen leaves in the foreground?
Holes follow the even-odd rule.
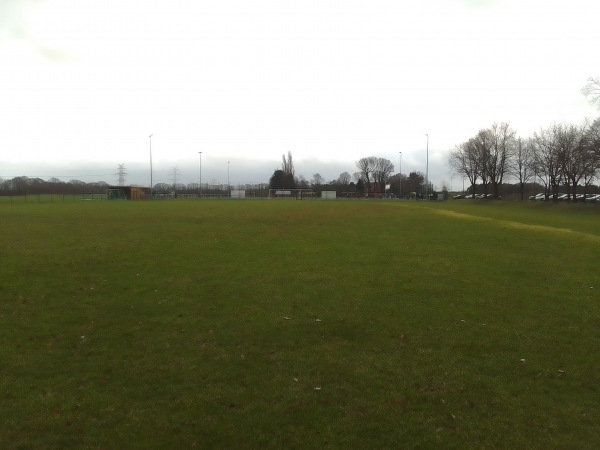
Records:
[[[0,448],[600,446],[600,208],[0,205]]]

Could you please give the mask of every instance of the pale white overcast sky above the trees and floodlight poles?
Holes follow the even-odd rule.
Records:
[[[0,0],[0,177],[267,182],[597,117],[598,0]],[[456,183],[456,181],[455,181]]]

